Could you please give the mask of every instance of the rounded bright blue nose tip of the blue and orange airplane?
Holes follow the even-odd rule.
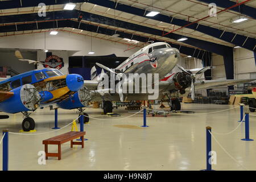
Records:
[[[84,78],[78,74],[70,74],[67,75],[66,82],[69,90],[77,92],[84,85]]]

